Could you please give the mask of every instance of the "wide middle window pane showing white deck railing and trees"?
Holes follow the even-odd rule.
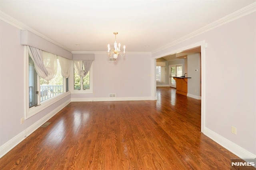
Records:
[[[57,73],[52,80],[46,81],[40,78],[41,102],[63,93],[63,77],[61,75],[60,63],[58,59],[57,62]]]

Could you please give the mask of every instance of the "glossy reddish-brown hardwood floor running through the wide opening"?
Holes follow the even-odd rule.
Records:
[[[230,170],[234,154],[200,132],[201,101],[71,102],[0,159],[0,170]]]

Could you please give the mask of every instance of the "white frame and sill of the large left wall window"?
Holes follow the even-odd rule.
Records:
[[[25,115],[24,115],[24,119],[28,119],[32,116],[34,116],[35,114],[41,112],[42,110],[44,110],[45,108],[48,108],[49,106],[51,106],[52,104],[58,102],[59,100],[61,100],[62,98],[65,98],[66,96],[70,95],[71,92],[70,90],[68,92],[66,92],[66,78],[63,78],[63,93],[59,94],[57,96],[54,96],[52,98],[49,98],[48,100],[45,100],[43,102],[40,102],[40,93],[38,93],[38,103],[36,106],[32,106],[31,108],[29,108],[29,54],[28,54],[28,50],[26,48],[26,46],[24,46],[25,50],[24,50],[24,56],[25,56],[25,67],[24,67],[24,75],[25,75],[25,86],[24,86],[24,102],[25,102]],[[37,75],[37,88],[40,89],[40,78]],[[70,78],[68,80],[68,84],[70,84]],[[70,87],[70,85],[69,85]]]

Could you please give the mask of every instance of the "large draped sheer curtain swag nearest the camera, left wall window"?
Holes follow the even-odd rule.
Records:
[[[57,58],[55,54],[27,46],[28,54],[34,61],[36,73],[44,80],[51,80],[57,72]]]

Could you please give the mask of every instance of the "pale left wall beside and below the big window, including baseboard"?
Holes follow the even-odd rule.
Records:
[[[26,64],[20,29],[0,20],[0,157],[70,102],[70,95],[25,120]]]

